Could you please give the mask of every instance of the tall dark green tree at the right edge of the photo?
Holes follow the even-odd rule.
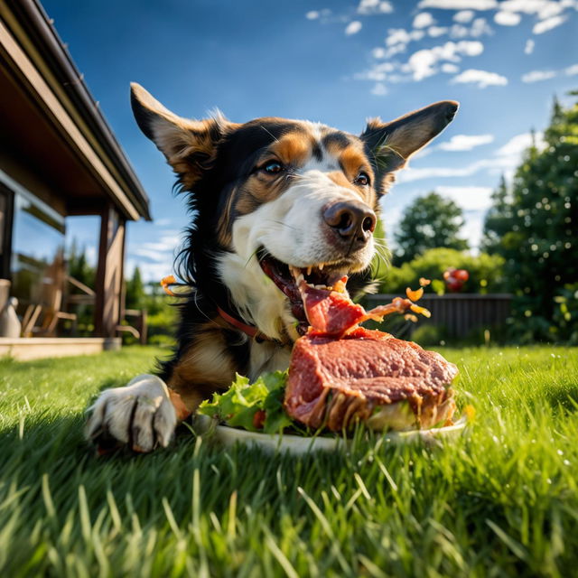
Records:
[[[555,100],[545,148],[532,144],[508,191],[500,183],[485,222],[483,246],[506,259],[509,289],[521,314],[534,323],[533,338],[552,338],[548,325],[564,284],[578,282],[578,105]]]

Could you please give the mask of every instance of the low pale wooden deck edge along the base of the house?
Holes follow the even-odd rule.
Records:
[[[119,337],[0,337],[0,356],[14,359],[63,358],[120,350]]]

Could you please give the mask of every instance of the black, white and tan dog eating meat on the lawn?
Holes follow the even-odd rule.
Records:
[[[350,292],[363,291],[379,200],[459,105],[437,102],[389,123],[374,118],[356,136],[277,117],[187,120],[135,83],[131,104],[188,195],[193,219],[180,272],[191,291],[172,358],[158,375],[102,392],[87,435],[102,448],[150,452],[236,373],[255,379],[288,367],[308,326],[297,275],[326,285],[349,275]]]

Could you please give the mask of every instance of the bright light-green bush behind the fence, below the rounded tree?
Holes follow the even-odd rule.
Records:
[[[504,259],[498,255],[482,253],[473,256],[455,249],[437,248],[426,251],[400,267],[385,266],[378,270],[380,293],[404,294],[406,287],[417,288],[419,278],[439,281],[433,284],[435,291],[443,290],[443,272],[449,267],[466,269],[470,279],[464,284],[463,293],[497,293],[504,290],[502,275]]]

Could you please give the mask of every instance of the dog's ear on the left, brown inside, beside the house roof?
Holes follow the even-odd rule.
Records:
[[[186,187],[200,179],[222,136],[238,126],[220,115],[204,120],[177,117],[142,86],[132,82],[131,106],[136,123],[164,154]]]

